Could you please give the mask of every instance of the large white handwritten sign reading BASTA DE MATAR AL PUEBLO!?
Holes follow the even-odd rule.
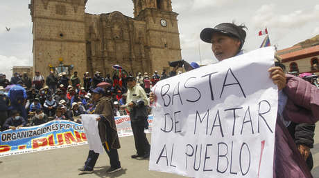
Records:
[[[150,170],[188,177],[273,177],[274,48],[159,81]]]

